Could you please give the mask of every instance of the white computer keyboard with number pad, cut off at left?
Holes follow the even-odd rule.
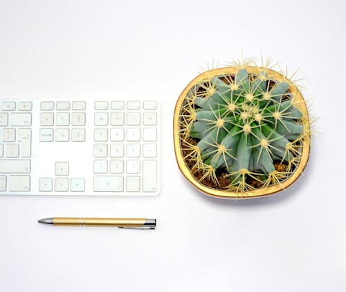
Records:
[[[157,101],[0,101],[0,195],[156,196]]]

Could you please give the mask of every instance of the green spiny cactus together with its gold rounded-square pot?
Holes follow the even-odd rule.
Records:
[[[174,149],[183,175],[220,198],[254,198],[292,184],[309,158],[307,106],[291,78],[253,60],[206,71],[183,90]]]

